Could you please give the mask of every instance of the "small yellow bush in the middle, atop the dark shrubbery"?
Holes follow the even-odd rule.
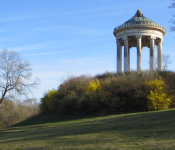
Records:
[[[92,80],[89,82],[89,86],[84,87],[84,92],[92,94],[92,92],[101,92],[102,87],[99,80]]]

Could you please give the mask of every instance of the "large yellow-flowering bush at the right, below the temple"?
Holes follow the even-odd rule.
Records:
[[[147,95],[149,99],[149,110],[168,109],[171,103],[171,97],[164,90],[165,83],[161,78],[146,83],[152,89]]]

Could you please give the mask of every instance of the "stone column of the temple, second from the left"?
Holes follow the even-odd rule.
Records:
[[[128,71],[128,37],[124,37],[124,72]]]

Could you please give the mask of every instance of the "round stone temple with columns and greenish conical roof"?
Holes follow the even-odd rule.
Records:
[[[142,49],[150,48],[150,70],[155,70],[154,47],[158,47],[158,70],[162,71],[162,43],[165,28],[144,17],[141,10],[124,24],[114,29],[117,42],[117,72],[122,72],[122,46],[124,46],[124,71],[130,71],[130,48],[137,48],[137,70],[142,70]]]

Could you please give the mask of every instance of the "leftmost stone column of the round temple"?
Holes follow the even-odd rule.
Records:
[[[117,40],[117,72],[122,72],[122,46],[119,40]]]

